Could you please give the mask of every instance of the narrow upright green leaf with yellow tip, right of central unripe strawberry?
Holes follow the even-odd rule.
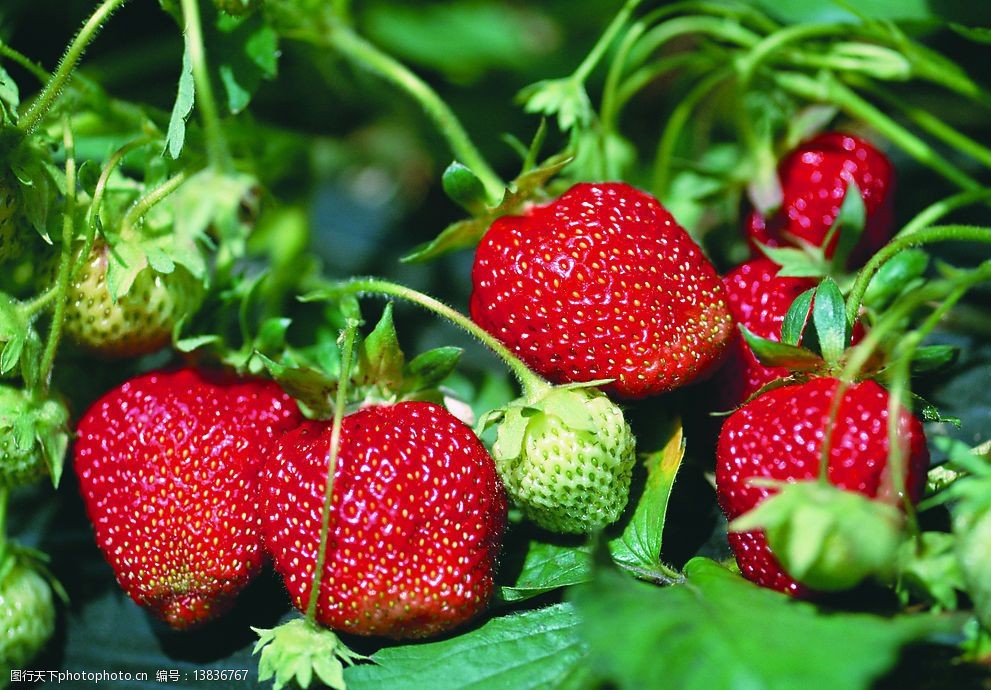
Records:
[[[652,572],[661,563],[668,499],[685,456],[681,420],[671,424],[667,443],[647,456],[647,482],[623,533],[609,541],[613,560],[636,571]]]

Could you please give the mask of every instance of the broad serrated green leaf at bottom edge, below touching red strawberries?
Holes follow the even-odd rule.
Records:
[[[494,618],[440,642],[387,647],[344,672],[348,690],[545,690],[584,665],[570,604]]]

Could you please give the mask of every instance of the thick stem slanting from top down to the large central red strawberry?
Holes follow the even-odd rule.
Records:
[[[186,0],[191,1],[191,0]],[[497,203],[505,191],[502,179],[489,166],[475,147],[457,116],[430,86],[390,55],[358,36],[346,26],[335,24],[321,39],[344,57],[366,67],[391,82],[413,98],[433,120],[458,160],[471,168],[485,186],[492,203]]]

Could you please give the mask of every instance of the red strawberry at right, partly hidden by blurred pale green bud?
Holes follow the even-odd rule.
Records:
[[[837,385],[837,379],[816,378],[775,388],[726,420],[716,448],[716,493],[727,518],[746,513],[773,491],[751,486],[751,478],[798,481],[818,476],[826,429],[831,429],[830,483],[871,498],[893,500],[888,477],[888,393],[874,381],[851,384],[835,424],[830,424]],[[918,419],[903,411],[898,427],[898,437],[908,451],[905,489],[914,502],[922,495],[929,451]],[[731,532],[730,546],[747,578],[790,594],[806,592],[782,571],[763,533]]]

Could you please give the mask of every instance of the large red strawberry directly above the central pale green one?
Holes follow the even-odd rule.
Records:
[[[732,332],[723,286],[656,199],[578,184],[503,216],[472,269],[471,316],[554,383],[639,398],[690,382]]]

